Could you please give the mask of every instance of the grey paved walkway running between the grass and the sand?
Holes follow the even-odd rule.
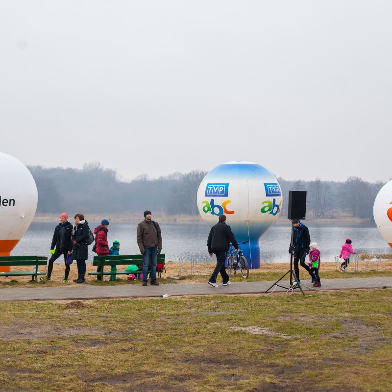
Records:
[[[101,287],[92,285],[39,287],[39,288],[10,288],[0,289],[0,301],[27,301],[27,300],[72,300],[94,298],[134,298],[134,297],[161,297],[164,294],[172,295],[211,295],[211,294],[263,294],[275,281],[266,282],[235,282],[230,286],[212,287],[207,283],[169,283],[160,286],[147,287],[140,285],[116,285]],[[288,281],[280,282],[282,286]],[[280,284],[279,283],[279,284]],[[322,287],[314,288],[310,280],[303,282],[304,292],[313,290],[348,290],[348,289],[375,289],[392,287],[392,277],[374,278],[346,278],[323,279]],[[288,287],[288,286],[287,286]],[[272,292],[274,287],[270,290]],[[285,292],[287,289],[276,287],[274,292]],[[300,293],[297,289],[296,292]],[[270,293],[269,292],[269,293]]]

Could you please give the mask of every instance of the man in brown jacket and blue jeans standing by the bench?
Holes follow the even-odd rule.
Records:
[[[156,259],[162,250],[162,235],[159,224],[151,219],[151,211],[144,212],[145,220],[138,224],[136,242],[140,253],[143,255],[143,286],[147,286],[148,261],[151,258],[151,280],[150,284],[159,286],[156,281]]]

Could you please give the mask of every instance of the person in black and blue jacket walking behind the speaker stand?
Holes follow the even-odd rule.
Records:
[[[313,277],[312,273],[310,272],[310,268],[305,264],[306,255],[309,254],[309,245],[310,245],[310,235],[309,229],[301,223],[299,220],[293,221],[294,225],[294,238],[293,244],[290,244],[289,253],[293,252],[294,256],[294,272],[295,276],[299,280],[299,268],[298,262],[301,266],[309,272],[309,275]]]

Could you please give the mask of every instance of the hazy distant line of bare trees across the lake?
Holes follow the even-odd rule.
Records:
[[[38,188],[39,213],[59,211],[83,213],[141,213],[145,209],[168,215],[197,215],[196,194],[206,172],[172,173],[149,178],[141,174],[132,181],[121,181],[116,171],[98,162],[83,169],[28,167]],[[336,218],[342,211],[353,217],[373,220],[374,199],[384,185],[358,177],[345,182],[286,181],[278,178],[283,193],[281,214],[287,214],[289,190],[307,191],[307,218]]]

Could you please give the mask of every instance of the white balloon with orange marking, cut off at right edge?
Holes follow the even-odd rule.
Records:
[[[373,216],[380,234],[392,247],[392,181],[386,183],[377,194]]]

